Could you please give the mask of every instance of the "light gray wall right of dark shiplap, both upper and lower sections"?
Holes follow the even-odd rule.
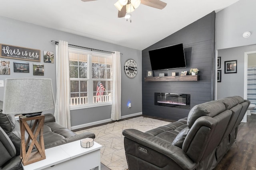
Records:
[[[239,0],[216,13],[216,54],[221,57],[222,81],[217,83],[220,99],[239,95],[244,97],[244,53],[256,51],[256,1]],[[245,31],[251,36],[242,37]],[[224,61],[237,60],[237,73],[224,74]]]

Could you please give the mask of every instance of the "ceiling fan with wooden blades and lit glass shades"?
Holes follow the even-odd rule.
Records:
[[[94,0],[82,0],[83,2]],[[114,6],[118,9],[118,18],[130,18],[131,12],[138,8],[140,4],[162,10],[167,4],[160,0],[118,0]],[[128,15],[127,15],[128,14]]]

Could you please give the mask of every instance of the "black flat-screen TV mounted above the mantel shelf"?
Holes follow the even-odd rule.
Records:
[[[186,58],[183,44],[171,45],[148,51],[152,70],[185,68]]]

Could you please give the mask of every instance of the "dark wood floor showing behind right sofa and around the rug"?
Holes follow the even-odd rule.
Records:
[[[173,122],[173,120],[170,119],[163,119],[147,115],[140,116]],[[256,170],[256,114],[252,114],[250,116],[248,115],[247,123],[240,123],[236,140],[237,142],[232,145],[230,150],[222,158],[214,170]],[[101,164],[101,170],[110,169],[104,166],[104,164]]]

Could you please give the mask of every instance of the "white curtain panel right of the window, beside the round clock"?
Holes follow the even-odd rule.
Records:
[[[121,60],[120,52],[114,51],[113,58],[113,89],[111,120],[121,119]]]

